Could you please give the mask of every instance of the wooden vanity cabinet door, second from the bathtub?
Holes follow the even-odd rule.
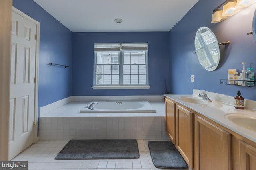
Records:
[[[184,107],[176,105],[176,148],[187,162],[188,166],[193,168],[193,114]]]

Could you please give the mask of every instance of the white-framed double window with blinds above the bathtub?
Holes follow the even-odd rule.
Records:
[[[148,43],[95,43],[94,86],[149,88]]]

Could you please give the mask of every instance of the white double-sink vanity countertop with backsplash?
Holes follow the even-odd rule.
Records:
[[[207,92],[207,94],[208,93],[210,92]],[[180,97],[197,97],[198,94],[200,93],[198,93],[198,91],[193,91],[193,94],[194,96],[193,95],[172,95],[172,94],[166,94],[164,96],[166,96],[167,98],[170,98],[171,100],[173,100],[174,102],[177,102],[178,104],[182,104],[183,106],[196,111],[197,113],[200,113],[201,115],[204,115],[205,117],[215,121],[216,123],[256,143],[256,132],[240,127],[226,118],[227,115],[229,114],[252,115],[252,117],[256,117],[255,109],[252,109],[252,108],[236,109],[234,108],[234,105],[230,104],[230,99],[234,100],[234,97],[225,96],[228,98],[229,101],[227,101],[227,103],[224,103],[224,102],[220,102],[219,100],[213,100],[211,97],[214,97],[214,95],[216,95],[214,93],[212,93],[211,96],[210,94],[208,94],[209,98],[212,99],[212,102],[208,102],[207,104],[194,104],[190,102],[184,102],[179,99]],[[222,97],[223,96],[224,95],[222,95]],[[248,107],[249,107],[249,102],[255,102],[255,101],[248,101]]]

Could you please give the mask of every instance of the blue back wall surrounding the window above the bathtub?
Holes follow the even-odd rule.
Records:
[[[168,32],[73,33],[73,95],[162,95],[169,86]],[[93,90],[94,43],[148,42],[149,90]]]

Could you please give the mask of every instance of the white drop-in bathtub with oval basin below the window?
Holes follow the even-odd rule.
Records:
[[[83,108],[80,113],[156,113],[146,100],[93,101],[94,109]],[[90,102],[91,104],[92,102]],[[89,105],[90,105],[89,104]]]

